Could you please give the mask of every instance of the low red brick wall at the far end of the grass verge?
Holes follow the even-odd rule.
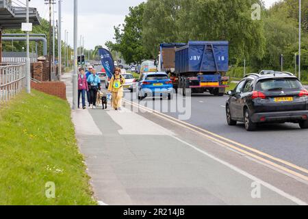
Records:
[[[44,81],[42,83],[31,81],[31,88],[66,100],[66,86],[62,81]]]

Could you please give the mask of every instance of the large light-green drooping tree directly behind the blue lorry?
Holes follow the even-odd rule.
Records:
[[[265,53],[263,21],[251,19],[251,0],[149,0],[144,10],[144,47],[156,55],[162,42],[228,40],[230,56]]]

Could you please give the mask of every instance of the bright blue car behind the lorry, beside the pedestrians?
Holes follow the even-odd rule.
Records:
[[[138,99],[145,97],[168,97],[173,98],[173,85],[166,73],[143,73],[137,85]]]

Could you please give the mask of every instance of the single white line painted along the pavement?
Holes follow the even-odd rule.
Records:
[[[252,181],[257,181],[259,182],[261,185],[264,185],[266,188],[268,188],[269,190],[272,190],[273,192],[276,192],[277,194],[289,199],[290,201],[293,201],[294,203],[296,203],[297,205],[307,205],[307,203],[305,203],[304,201],[301,201],[299,198],[296,198],[290,194],[287,194],[286,192],[283,192],[282,190],[279,190],[279,188],[274,187],[274,185],[270,185],[269,183],[266,183],[265,181],[262,181],[261,179],[258,179],[257,177],[249,174],[248,172],[245,172],[244,170],[241,170],[240,168],[237,168],[236,166],[233,166],[232,164],[229,164],[228,162],[224,162],[222,159],[219,159],[218,157],[215,157],[214,155],[211,155],[205,151],[202,151],[201,149],[198,149],[196,146],[185,142],[175,136],[172,136],[172,138],[175,138],[176,140],[178,140],[179,142],[182,142],[183,144],[186,144],[188,146],[190,146],[192,149],[203,153],[203,155],[206,155],[207,157],[210,157],[211,159],[216,160],[216,162],[219,162],[220,164],[223,164],[224,166],[227,166],[229,168],[231,168],[232,170],[234,170],[235,172],[240,173],[241,175],[244,175],[245,177],[251,179]]]

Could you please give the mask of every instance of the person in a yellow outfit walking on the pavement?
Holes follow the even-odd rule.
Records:
[[[125,83],[125,78],[120,73],[120,68],[116,68],[116,70],[114,70],[114,76],[110,79],[108,87],[108,92],[112,93],[112,107],[114,107],[114,110],[121,110],[123,84]]]

